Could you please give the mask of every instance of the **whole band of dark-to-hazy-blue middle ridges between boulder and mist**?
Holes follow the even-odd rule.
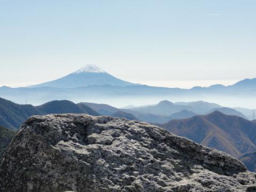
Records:
[[[181,105],[182,104],[182,105]],[[213,108],[211,107],[220,107]],[[147,107],[135,107],[131,109],[120,109],[106,104],[81,102],[75,104],[68,100],[55,100],[44,103],[40,106],[18,105],[9,100],[0,98],[0,125],[10,129],[18,129],[19,126],[31,115],[45,115],[58,113],[85,113],[89,115],[108,115],[124,117],[130,120],[137,120],[149,123],[166,123],[172,119],[190,118],[199,115],[198,112],[211,113],[219,110],[228,115],[237,115],[246,118],[242,113],[230,108],[221,108],[215,103],[203,101],[179,102],[179,105],[170,101],[161,101],[156,105]],[[197,113],[195,113],[197,111]]]

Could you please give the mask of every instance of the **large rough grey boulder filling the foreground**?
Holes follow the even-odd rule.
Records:
[[[30,117],[7,150],[0,191],[255,191],[255,173],[147,123]]]

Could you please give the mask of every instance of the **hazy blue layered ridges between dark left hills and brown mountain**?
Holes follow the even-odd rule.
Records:
[[[193,117],[199,114],[209,114],[212,111],[218,110],[227,115],[237,115],[246,118],[245,115],[231,108],[221,107],[215,103],[204,101],[195,102],[176,102],[164,100],[156,105],[148,105],[143,107],[133,107],[129,109],[120,109],[106,104],[83,102],[93,110],[102,115],[113,115],[117,111],[124,111],[132,114],[140,121],[149,123],[165,123],[172,119],[183,119]],[[216,108],[218,107],[218,108]],[[213,110],[214,109],[214,110]]]

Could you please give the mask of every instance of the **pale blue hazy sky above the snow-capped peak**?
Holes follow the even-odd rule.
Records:
[[[95,64],[126,81],[190,87],[256,77],[256,1],[0,1],[0,86]]]

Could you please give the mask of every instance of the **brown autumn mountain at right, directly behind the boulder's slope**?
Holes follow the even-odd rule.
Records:
[[[256,151],[256,124],[251,121],[214,111],[209,115],[172,120],[162,127],[201,145],[240,158],[251,171],[255,170],[255,166],[249,166],[255,162]]]

